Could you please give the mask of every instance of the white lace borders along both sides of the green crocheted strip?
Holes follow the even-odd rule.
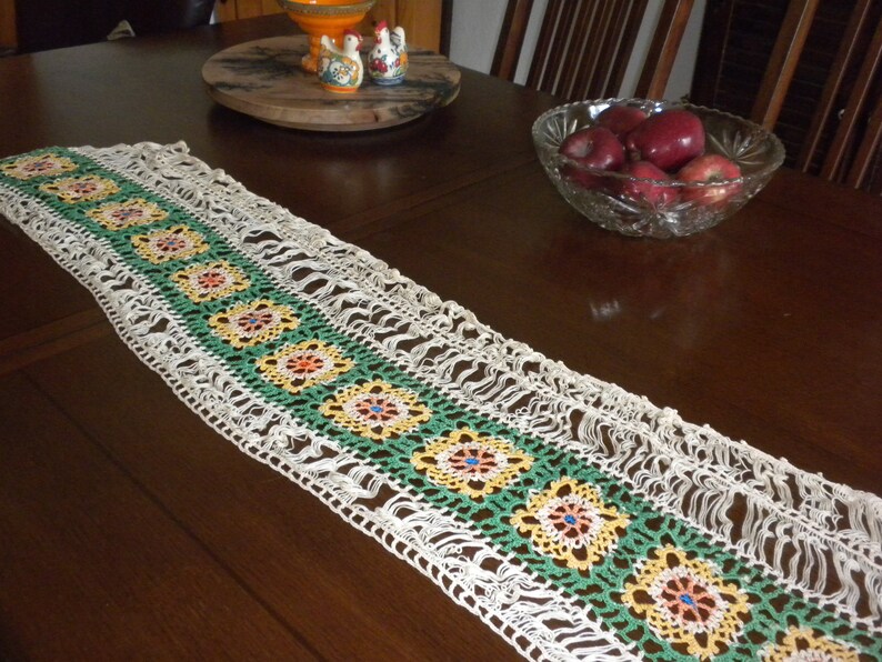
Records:
[[[368,252],[211,170],[184,143],[78,151],[188,209],[279,288],[309,300],[338,329],[451,400],[582,455],[782,586],[882,633],[878,496],[686,423],[671,409],[503,338]],[[430,576],[525,656],[639,656],[603,630],[584,603],[237,382],[193,343],[146,280],[113,260],[109,247],[96,249],[93,239],[31,204],[10,191],[0,212],[90,288],[128,345],[242,451]],[[378,508],[381,489],[394,495]],[[745,510],[743,520],[730,518],[735,500]],[[860,599],[865,613],[856,610]]]

